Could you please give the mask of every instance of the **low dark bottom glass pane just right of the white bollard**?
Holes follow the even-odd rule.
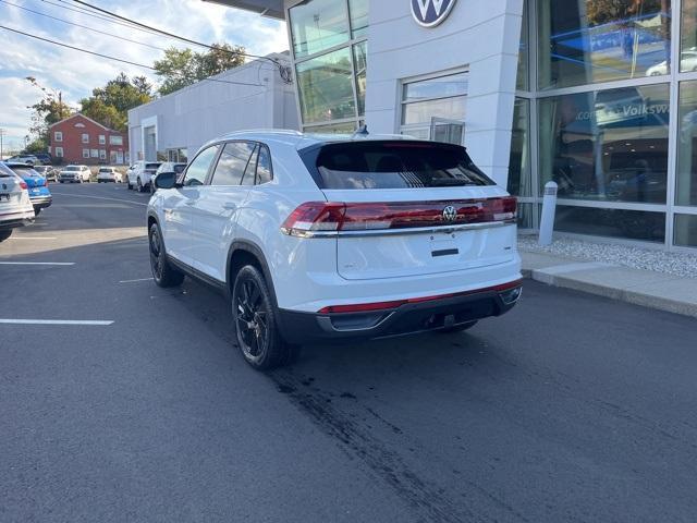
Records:
[[[665,215],[643,210],[557,207],[554,230],[644,242],[665,241]]]

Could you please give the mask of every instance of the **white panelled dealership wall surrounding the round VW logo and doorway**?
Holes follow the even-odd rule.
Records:
[[[370,0],[366,122],[399,131],[401,85],[414,76],[469,68],[465,145],[505,186],[523,0],[457,0],[433,28],[419,26],[408,0]]]

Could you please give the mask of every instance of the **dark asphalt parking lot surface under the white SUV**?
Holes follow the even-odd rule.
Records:
[[[222,296],[149,280],[148,195],[51,190],[0,244],[0,521],[694,521],[693,319],[526,281],[265,375]]]

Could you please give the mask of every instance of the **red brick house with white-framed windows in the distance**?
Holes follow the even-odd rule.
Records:
[[[61,163],[129,163],[129,134],[76,113],[49,127],[49,153]]]

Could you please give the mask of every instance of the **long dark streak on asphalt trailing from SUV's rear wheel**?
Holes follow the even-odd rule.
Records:
[[[400,498],[419,511],[421,521],[443,523],[486,521],[478,514],[455,506],[443,496],[442,489],[426,484],[409,470],[396,452],[387,448],[386,443],[376,438],[369,429],[362,427],[355,418],[335,409],[329,396],[316,388],[308,389],[305,386],[303,389],[303,381],[288,369],[276,370],[270,376],[278,390],[285,393],[299,410],[309,415],[325,434],[339,440],[350,457],[357,457],[390,485]],[[374,413],[374,415],[384,422],[377,414]]]

